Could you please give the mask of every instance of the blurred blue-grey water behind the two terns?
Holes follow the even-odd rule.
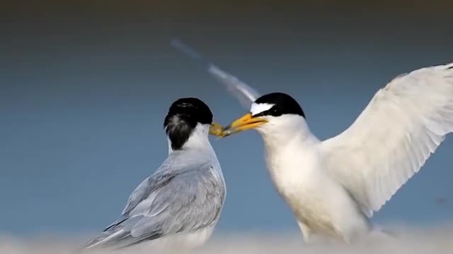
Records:
[[[162,123],[173,100],[200,97],[221,123],[245,112],[170,47],[174,37],[260,92],[294,95],[320,138],[347,128],[399,73],[453,60],[442,16],[318,14],[11,18],[0,42],[0,231],[98,231],[166,157]],[[228,188],[217,229],[297,231],[258,134],[212,143]],[[374,220],[453,219],[452,151],[449,137]]]

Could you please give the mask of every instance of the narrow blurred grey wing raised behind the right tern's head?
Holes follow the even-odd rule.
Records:
[[[205,60],[198,52],[190,48],[188,45],[183,44],[179,40],[173,40],[171,42],[173,47],[178,49],[180,52],[190,56],[192,59],[200,63],[202,68],[205,68],[214,78],[220,81],[236,99],[239,100],[241,105],[246,109],[250,109],[252,102],[255,102],[260,94],[256,92],[250,85],[247,85],[243,81],[236,78],[234,75],[226,73],[221,68],[214,65],[210,61]]]

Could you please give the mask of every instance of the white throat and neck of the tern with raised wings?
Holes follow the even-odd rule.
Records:
[[[287,116],[275,120],[274,123],[266,123],[260,130],[269,152],[288,145],[297,144],[298,147],[302,145],[308,148],[319,143],[319,139],[311,133],[302,116]]]

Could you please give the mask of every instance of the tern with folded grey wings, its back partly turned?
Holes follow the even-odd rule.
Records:
[[[171,104],[164,120],[168,158],[142,181],[116,222],[82,250],[140,246],[196,248],[210,238],[226,196],[224,176],[209,133],[221,126],[197,98]]]

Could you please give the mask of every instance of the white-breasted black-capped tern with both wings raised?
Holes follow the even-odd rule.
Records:
[[[453,63],[394,78],[348,129],[328,140],[311,133],[290,95],[243,92],[248,85],[212,63],[205,61],[205,66],[237,97],[249,99],[249,112],[222,136],[252,128],[260,133],[270,176],[305,241],[321,235],[350,243],[373,231],[373,212],[453,131]]]

